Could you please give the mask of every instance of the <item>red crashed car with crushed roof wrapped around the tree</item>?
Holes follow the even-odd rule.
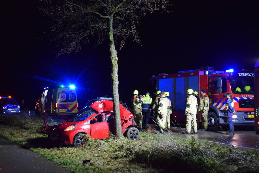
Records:
[[[128,139],[139,139],[139,130],[133,114],[120,104],[120,118],[123,134]],[[83,137],[88,134],[92,139],[109,138],[114,134],[113,102],[99,100],[78,111],[71,118],[61,115],[44,115],[45,128],[51,141],[62,145],[81,146]]]

